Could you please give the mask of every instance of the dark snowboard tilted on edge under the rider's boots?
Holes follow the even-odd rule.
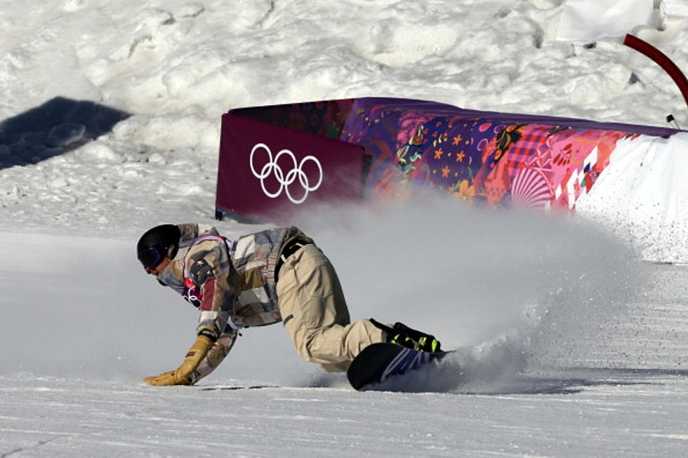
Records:
[[[346,375],[356,390],[404,377],[409,372],[428,369],[432,361],[439,361],[446,351],[416,351],[396,344],[378,343],[366,346],[349,366]]]

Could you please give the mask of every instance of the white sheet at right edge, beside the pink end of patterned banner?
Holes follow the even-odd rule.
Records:
[[[687,151],[684,132],[619,140],[576,212],[635,241],[644,260],[688,262]]]

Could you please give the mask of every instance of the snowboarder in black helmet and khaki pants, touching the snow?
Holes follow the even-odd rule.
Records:
[[[151,385],[192,385],[223,361],[241,328],[279,321],[296,352],[329,372],[345,372],[376,342],[439,351],[435,337],[402,323],[350,323],[332,264],[297,227],[230,240],[206,224],[163,224],[141,236],[137,254],[148,274],[200,311],[183,363],[145,377]]]

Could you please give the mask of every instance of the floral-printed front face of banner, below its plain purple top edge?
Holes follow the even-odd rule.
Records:
[[[590,191],[616,142],[633,134],[476,116],[432,116],[364,107],[345,139],[373,155],[369,188],[403,196],[409,186],[463,201],[573,209]]]

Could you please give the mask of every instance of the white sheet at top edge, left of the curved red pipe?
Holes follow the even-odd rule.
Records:
[[[567,0],[557,32],[558,41],[592,43],[605,36],[624,36],[638,25],[649,25],[654,0]]]

